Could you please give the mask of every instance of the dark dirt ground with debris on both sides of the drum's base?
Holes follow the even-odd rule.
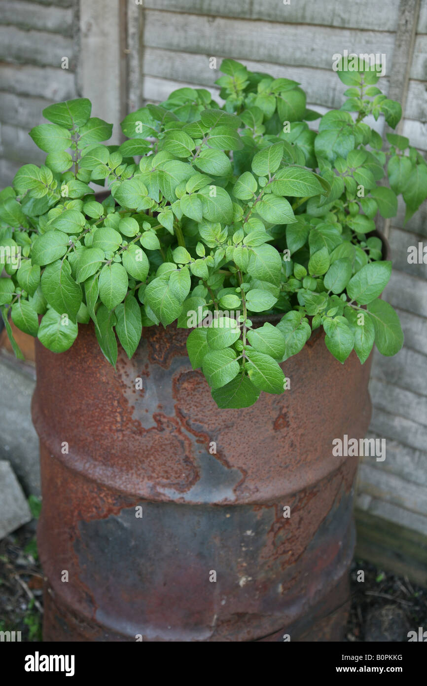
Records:
[[[33,504],[34,514],[38,506]],[[0,541],[0,630],[21,631],[22,641],[40,641],[42,571],[36,520]],[[357,580],[358,570],[365,580]],[[359,575],[360,576],[360,575]],[[345,641],[407,641],[408,630],[427,626],[427,589],[354,560],[352,606]]]

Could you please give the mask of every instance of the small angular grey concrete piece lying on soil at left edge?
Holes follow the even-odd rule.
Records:
[[[27,499],[10,462],[0,460],[0,539],[31,519]]]

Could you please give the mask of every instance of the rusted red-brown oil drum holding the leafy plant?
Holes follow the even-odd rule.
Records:
[[[61,355],[36,344],[44,638],[340,640],[357,458],[332,440],[365,436],[370,360],[317,331],[290,390],[219,410],[187,333],[144,329],[117,371],[92,324]]]

